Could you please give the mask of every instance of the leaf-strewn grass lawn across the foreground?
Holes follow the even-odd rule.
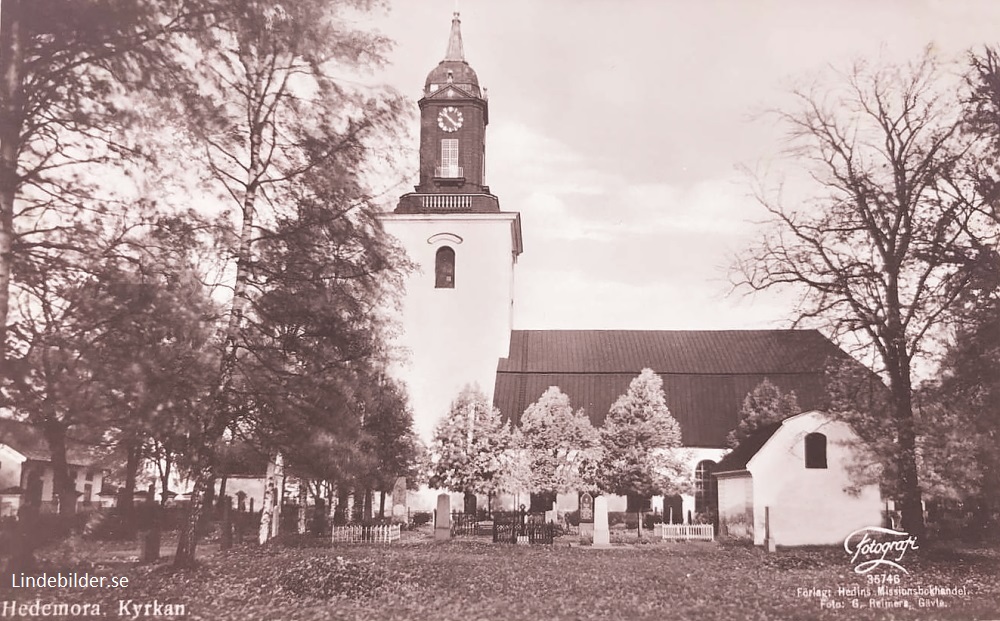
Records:
[[[565,539],[565,538],[564,538]],[[88,552],[78,544],[77,558]],[[102,546],[106,544],[101,544]],[[166,548],[164,549],[166,552]],[[203,557],[199,568],[174,572],[137,566],[104,554],[95,565],[51,554],[46,569],[127,575],[118,591],[10,589],[0,600],[100,602],[117,618],[118,600],[184,604],[187,619],[1000,619],[997,550],[925,554],[907,558],[899,587],[960,587],[943,596],[946,608],[919,608],[918,595],[838,596],[838,587],[870,587],[853,573],[841,549],[779,550],[715,543],[644,544],[605,550],[494,545],[426,536],[401,543],[319,545],[312,542],[243,546]],[[55,563],[55,564],[53,564]],[[831,589],[829,602],[800,589]],[[927,596],[924,596],[927,599]],[[871,608],[905,601],[910,608]]]

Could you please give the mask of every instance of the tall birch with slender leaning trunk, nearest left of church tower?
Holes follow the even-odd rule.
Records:
[[[180,97],[170,102],[189,120],[210,182],[233,205],[237,222],[214,415],[204,421],[208,441],[195,459],[177,566],[194,562],[195,527],[214,467],[216,442],[211,438],[222,437],[247,412],[239,389],[251,384],[240,378],[238,367],[250,347],[245,337],[255,319],[253,298],[269,288],[257,269],[266,266],[258,249],[267,236],[262,229],[285,215],[282,209],[294,212],[303,201],[322,204],[318,198],[334,199],[327,201],[331,220],[353,208],[370,208],[359,182],[360,166],[402,109],[402,99],[391,91],[354,88],[349,79],[334,77],[383,61],[387,42],[352,29],[345,17],[352,10],[370,9],[369,0],[218,0],[213,6],[217,10],[210,27],[191,34],[184,71],[176,74]],[[324,178],[329,179],[325,185]],[[336,256],[347,255],[331,259]],[[283,372],[280,365],[271,369]]]

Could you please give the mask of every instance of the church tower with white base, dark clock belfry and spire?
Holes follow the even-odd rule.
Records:
[[[448,47],[427,75],[420,107],[420,178],[382,216],[415,271],[406,281],[398,370],[425,438],[466,384],[493,390],[507,356],[521,219],[486,185],[486,89],[465,60],[455,13]]]

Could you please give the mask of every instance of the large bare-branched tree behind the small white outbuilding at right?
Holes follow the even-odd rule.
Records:
[[[796,91],[778,117],[805,167],[806,200],[760,191],[769,229],[737,261],[738,286],[802,294],[794,325],[871,345],[888,380],[884,456],[898,479],[903,528],[921,536],[912,370],[969,285],[981,246],[982,197],[965,174],[970,152],[930,52],[905,67],[859,64],[826,90]]]

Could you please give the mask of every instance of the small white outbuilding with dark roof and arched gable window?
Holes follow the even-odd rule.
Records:
[[[878,485],[852,477],[862,446],[850,425],[818,411],[757,430],[716,469],[720,534],[756,545],[840,545],[880,526]]]

